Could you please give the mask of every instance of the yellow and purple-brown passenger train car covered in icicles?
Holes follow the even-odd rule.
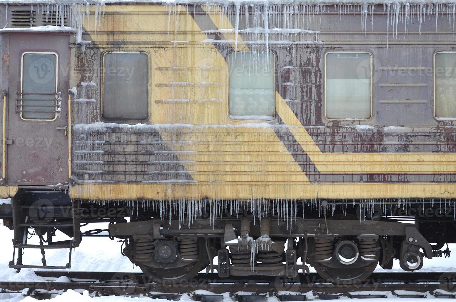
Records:
[[[102,222],[156,281],[450,255],[453,2],[73,2],[0,0],[10,267]]]

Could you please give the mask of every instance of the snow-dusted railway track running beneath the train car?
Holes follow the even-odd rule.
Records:
[[[182,295],[201,302],[261,302],[349,298],[455,298],[456,273],[374,273],[359,284],[344,286],[322,282],[316,274],[285,280],[274,277],[220,279],[217,274],[198,274],[186,283],[148,282],[141,273],[36,271],[45,281],[1,282],[0,292],[50,298],[69,289],[92,296],[148,296],[180,300]],[[67,281],[61,282],[62,277]]]

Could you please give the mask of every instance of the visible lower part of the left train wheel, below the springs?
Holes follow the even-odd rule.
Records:
[[[197,240],[199,247],[205,246],[205,241],[202,238]],[[198,256],[194,262],[189,262],[186,266],[176,268],[155,268],[139,263],[141,271],[148,277],[149,282],[189,282],[198,272],[203,270],[209,264],[207,252],[204,248],[198,248]]]

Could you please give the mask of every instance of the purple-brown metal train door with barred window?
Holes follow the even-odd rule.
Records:
[[[65,185],[69,35],[10,33],[6,182]]]

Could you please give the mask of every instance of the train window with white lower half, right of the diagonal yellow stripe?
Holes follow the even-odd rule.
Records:
[[[371,62],[368,52],[326,53],[326,118],[367,120],[371,117]]]

